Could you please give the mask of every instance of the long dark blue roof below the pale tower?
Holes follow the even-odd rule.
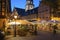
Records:
[[[27,16],[27,15],[30,15],[30,14],[38,13],[38,7],[34,8],[32,10],[28,10],[28,11],[25,11],[25,9],[17,8],[17,7],[15,7],[14,10],[15,9],[16,9],[18,15],[20,15],[20,16]]]

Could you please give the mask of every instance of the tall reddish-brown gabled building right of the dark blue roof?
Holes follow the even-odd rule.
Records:
[[[45,5],[42,1],[39,4],[38,8],[38,18],[40,20],[50,20],[50,7],[48,5]]]

